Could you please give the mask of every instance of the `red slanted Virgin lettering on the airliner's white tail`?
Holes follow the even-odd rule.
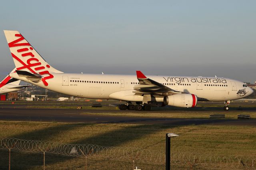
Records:
[[[49,73],[49,71],[45,70],[46,67],[50,68],[50,65],[45,65],[42,66],[42,63],[39,62],[39,60],[37,58],[34,58],[34,54],[33,54],[33,48],[31,47],[30,43],[26,42],[26,43],[19,43],[22,40],[24,40],[24,37],[21,34],[15,34],[16,37],[18,37],[17,40],[14,40],[10,43],[8,43],[9,47],[21,47],[20,49],[17,49],[17,52],[20,53],[21,55],[19,57],[25,57],[26,59],[26,63],[24,63],[19,57],[17,57],[16,55],[14,55],[12,53],[12,57],[15,58],[18,62],[20,62],[23,66],[22,67],[18,67],[17,70],[22,70],[22,69],[29,69],[32,73],[36,73],[34,70],[36,71],[40,71],[38,72],[40,75],[48,75],[48,76],[44,76],[42,77],[42,82],[44,83],[45,86],[48,86],[48,83],[46,82],[47,79],[52,79],[54,76]],[[28,47],[22,47],[22,46],[30,46]],[[31,67],[35,67],[34,69],[32,69]]]

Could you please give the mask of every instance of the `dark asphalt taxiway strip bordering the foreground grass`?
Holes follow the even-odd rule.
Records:
[[[93,113],[93,114],[86,114]],[[0,109],[0,120],[8,121],[44,121],[69,123],[132,123],[161,125],[232,125],[256,126],[256,119],[170,119],[152,117],[126,117],[97,115],[97,113],[122,112],[109,110],[76,109]],[[139,114],[139,113],[138,113]]]

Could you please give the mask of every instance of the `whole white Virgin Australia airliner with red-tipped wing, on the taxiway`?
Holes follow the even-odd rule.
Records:
[[[16,66],[10,77],[39,87],[90,99],[126,101],[120,110],[150,110],[152,106],[195,107],[197,101],[225,101],[252,94],[241,81],[222,77],[146,77],[135,75],[63,73],[50,66],[18,31],[4,31]],[[136,105],[132,105],[136,102]]]

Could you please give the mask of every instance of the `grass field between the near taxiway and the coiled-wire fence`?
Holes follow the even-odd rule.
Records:
[[[256,127],[0,121],[1,138],[137,147],[162,153],[167,132],[180,135],[171,141],[172,152],[256,156]]]

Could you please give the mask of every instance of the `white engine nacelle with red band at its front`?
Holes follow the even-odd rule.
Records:
[[[176,94],[164,97],[164,104],[175,107],[196,107],[197,96],[193,94]]]

